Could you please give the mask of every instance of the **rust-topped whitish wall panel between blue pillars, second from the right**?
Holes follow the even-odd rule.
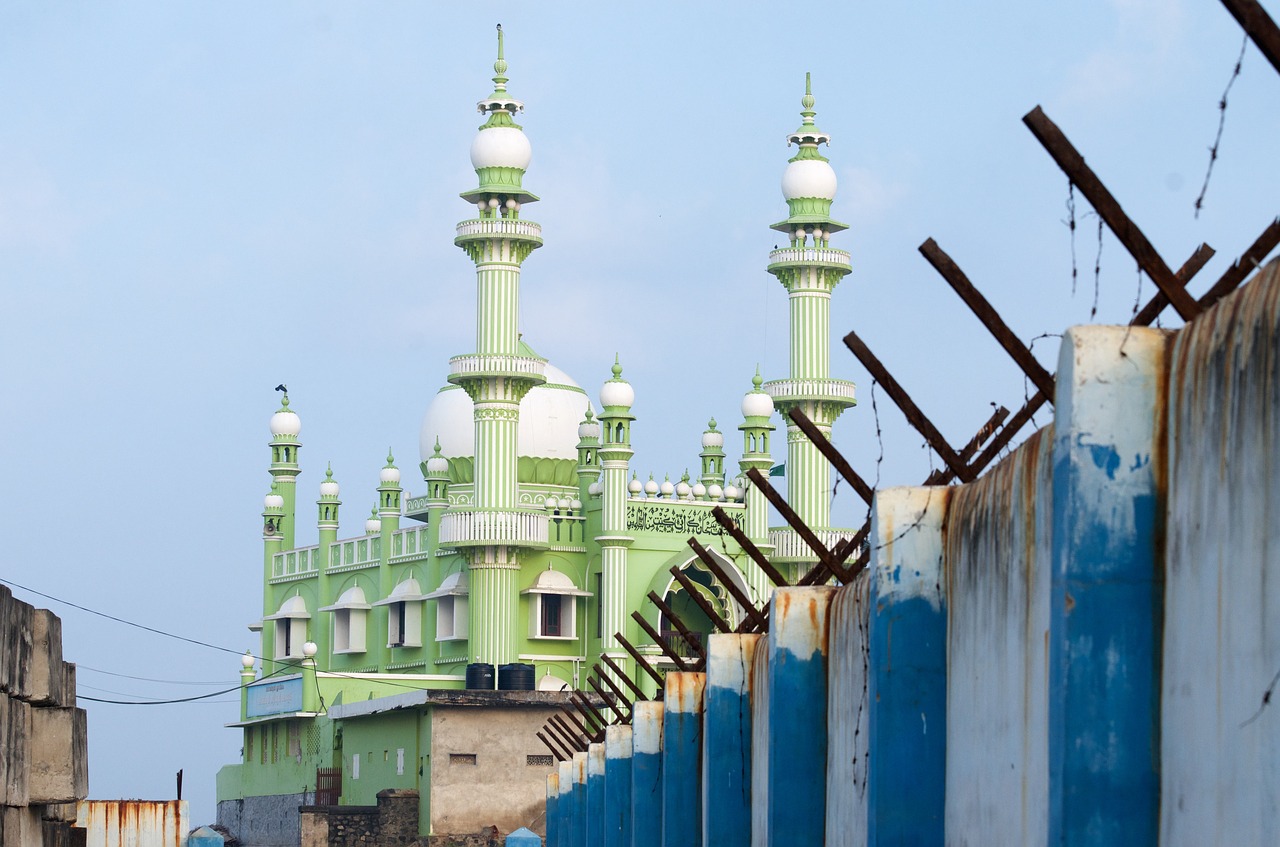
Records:
[[[951,495],[946,521],[946,833],[1048,834],[1052,426]]]

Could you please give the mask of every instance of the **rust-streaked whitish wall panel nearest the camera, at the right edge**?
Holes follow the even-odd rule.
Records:
[[[1280,262],[1170,367],[1161,843],[1280,843]]]

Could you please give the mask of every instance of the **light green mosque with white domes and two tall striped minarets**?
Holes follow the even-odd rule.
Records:
[[[788,243],[764,269],[788,296],[790,374],[741,375],[750,390],[736,472],[712,420],[699,473],[659,481],[628,466],[643,425],[623,362],[602,362],[612,376],[595,406],[517,331],[521,273],[543,237],[527,216],[538,201],[525,187],[532,151],[516,123],[524,104],[507,91],[500,28],[494,72],[471,142],[477,186],[461,194],[470,214],[453,239],[476,266],[475,349],[449,360],[422,420],[424,493],[406,493],[388,455],[378,507],[361,534],[340,537],[340,489],[324,471],[319,542],[297,546],[302,418],[287,393],[270,417],[262,618],[251,624],[260,660],[243,658],[241,716],[230,724],[243,732],[242,759],[218,774],[219,821],[244,843],[297,844],[300,806],[339,797],[372,806],[388,788],[419,791],[422,834],[539,828],[553,759],[534,731],[563,702],[557,692],[585,688],[602,656],[652,690],[614,637],[671,667],[631,618],[639,610],[655,631],[669,629],[650,591],[710,632],[671,568],[722,618],[741,621],[689,537],[722,559],[742,595],[767,598],[772,583],[722,534],[714,507],[783,572],[815,560],[790,527],[768,526],[748,470],[781,463],[788,503],[817,535],[828,546],[852,535],[831,526],[829,464],[804,434],[787,426],[785,457],[773,444],[774,415],[790,424],[786,413],[800,408],[829,434],[854,406],[854,385],[829,375],[831,296],[850,258],[831,246],[846,226],[831,218],[836,174],[820,152],[829,137],[814,123],[808,79],[782,175],[787,216],[772,225]],[[503,691],[475,690],[495,678]]]

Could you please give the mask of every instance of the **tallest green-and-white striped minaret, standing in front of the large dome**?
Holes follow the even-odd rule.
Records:
[[[488,120],[471,142],[480,186],[462,194],[477,216],[460,223],[453,239],[476,264],[476,352],[449,362],[449,381],[475,409],[475,502],[447,513],[440,532],[471,550],[471,659],[499,665],[516,660],[521,542],[547,542],[545,516],[516,508],[520,400],[547,381],[547,362],[520,356],[520,265],[543,239],[538,224],[520,220],[521,206],[538,197],[521,186],[532,150],[512,119],[525,106],[507,93],[500,26],[493,69],[494,91],[477,104]]]

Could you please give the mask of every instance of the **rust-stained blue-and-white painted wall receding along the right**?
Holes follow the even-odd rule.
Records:
[[[851,585],[774,594],[749,731],[704,716],[741,746],[700,733],[751,844],[1280,843],[1280,260],[1179,333],[1069,330],[1056,388],[982,479],[879,491]]]

